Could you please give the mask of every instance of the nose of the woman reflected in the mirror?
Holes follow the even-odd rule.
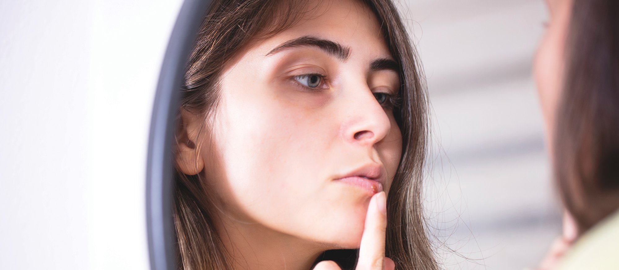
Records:
[[[361,92],[345,106],[342,137],[352,143],[374,145],[387,136],[391,121],[367,86]]]

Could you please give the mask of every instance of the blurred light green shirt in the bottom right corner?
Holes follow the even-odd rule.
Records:
[[[582,235],[558,270],[619,270],[619,211]]]

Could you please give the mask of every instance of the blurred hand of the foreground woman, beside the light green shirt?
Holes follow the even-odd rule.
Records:
[[[572,247],[574,240],[578,235],[578,229],[576,228],[576,222],[573,217],[567,211],[563,214],[563,235],[555,240],[550,246],[550,251],[540,263],[537,270],[551,270],[554,269],[563,255]]]

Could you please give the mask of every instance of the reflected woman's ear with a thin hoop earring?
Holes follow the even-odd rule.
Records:
[[[204,169],[204,158],[199,151],[199,135],[204,121],[181,108],[181,117],[176,130],[176,167],[183,174],[195,175]]]

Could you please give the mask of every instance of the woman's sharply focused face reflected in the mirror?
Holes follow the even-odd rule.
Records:
[[[199,162],[222,212],[358,247],[370,197],[389,191],[400,161],[396,70],[378,20],[353,1],[325,1],[242,51],[224,70],[214,123],[197,141],[209,146]]]

